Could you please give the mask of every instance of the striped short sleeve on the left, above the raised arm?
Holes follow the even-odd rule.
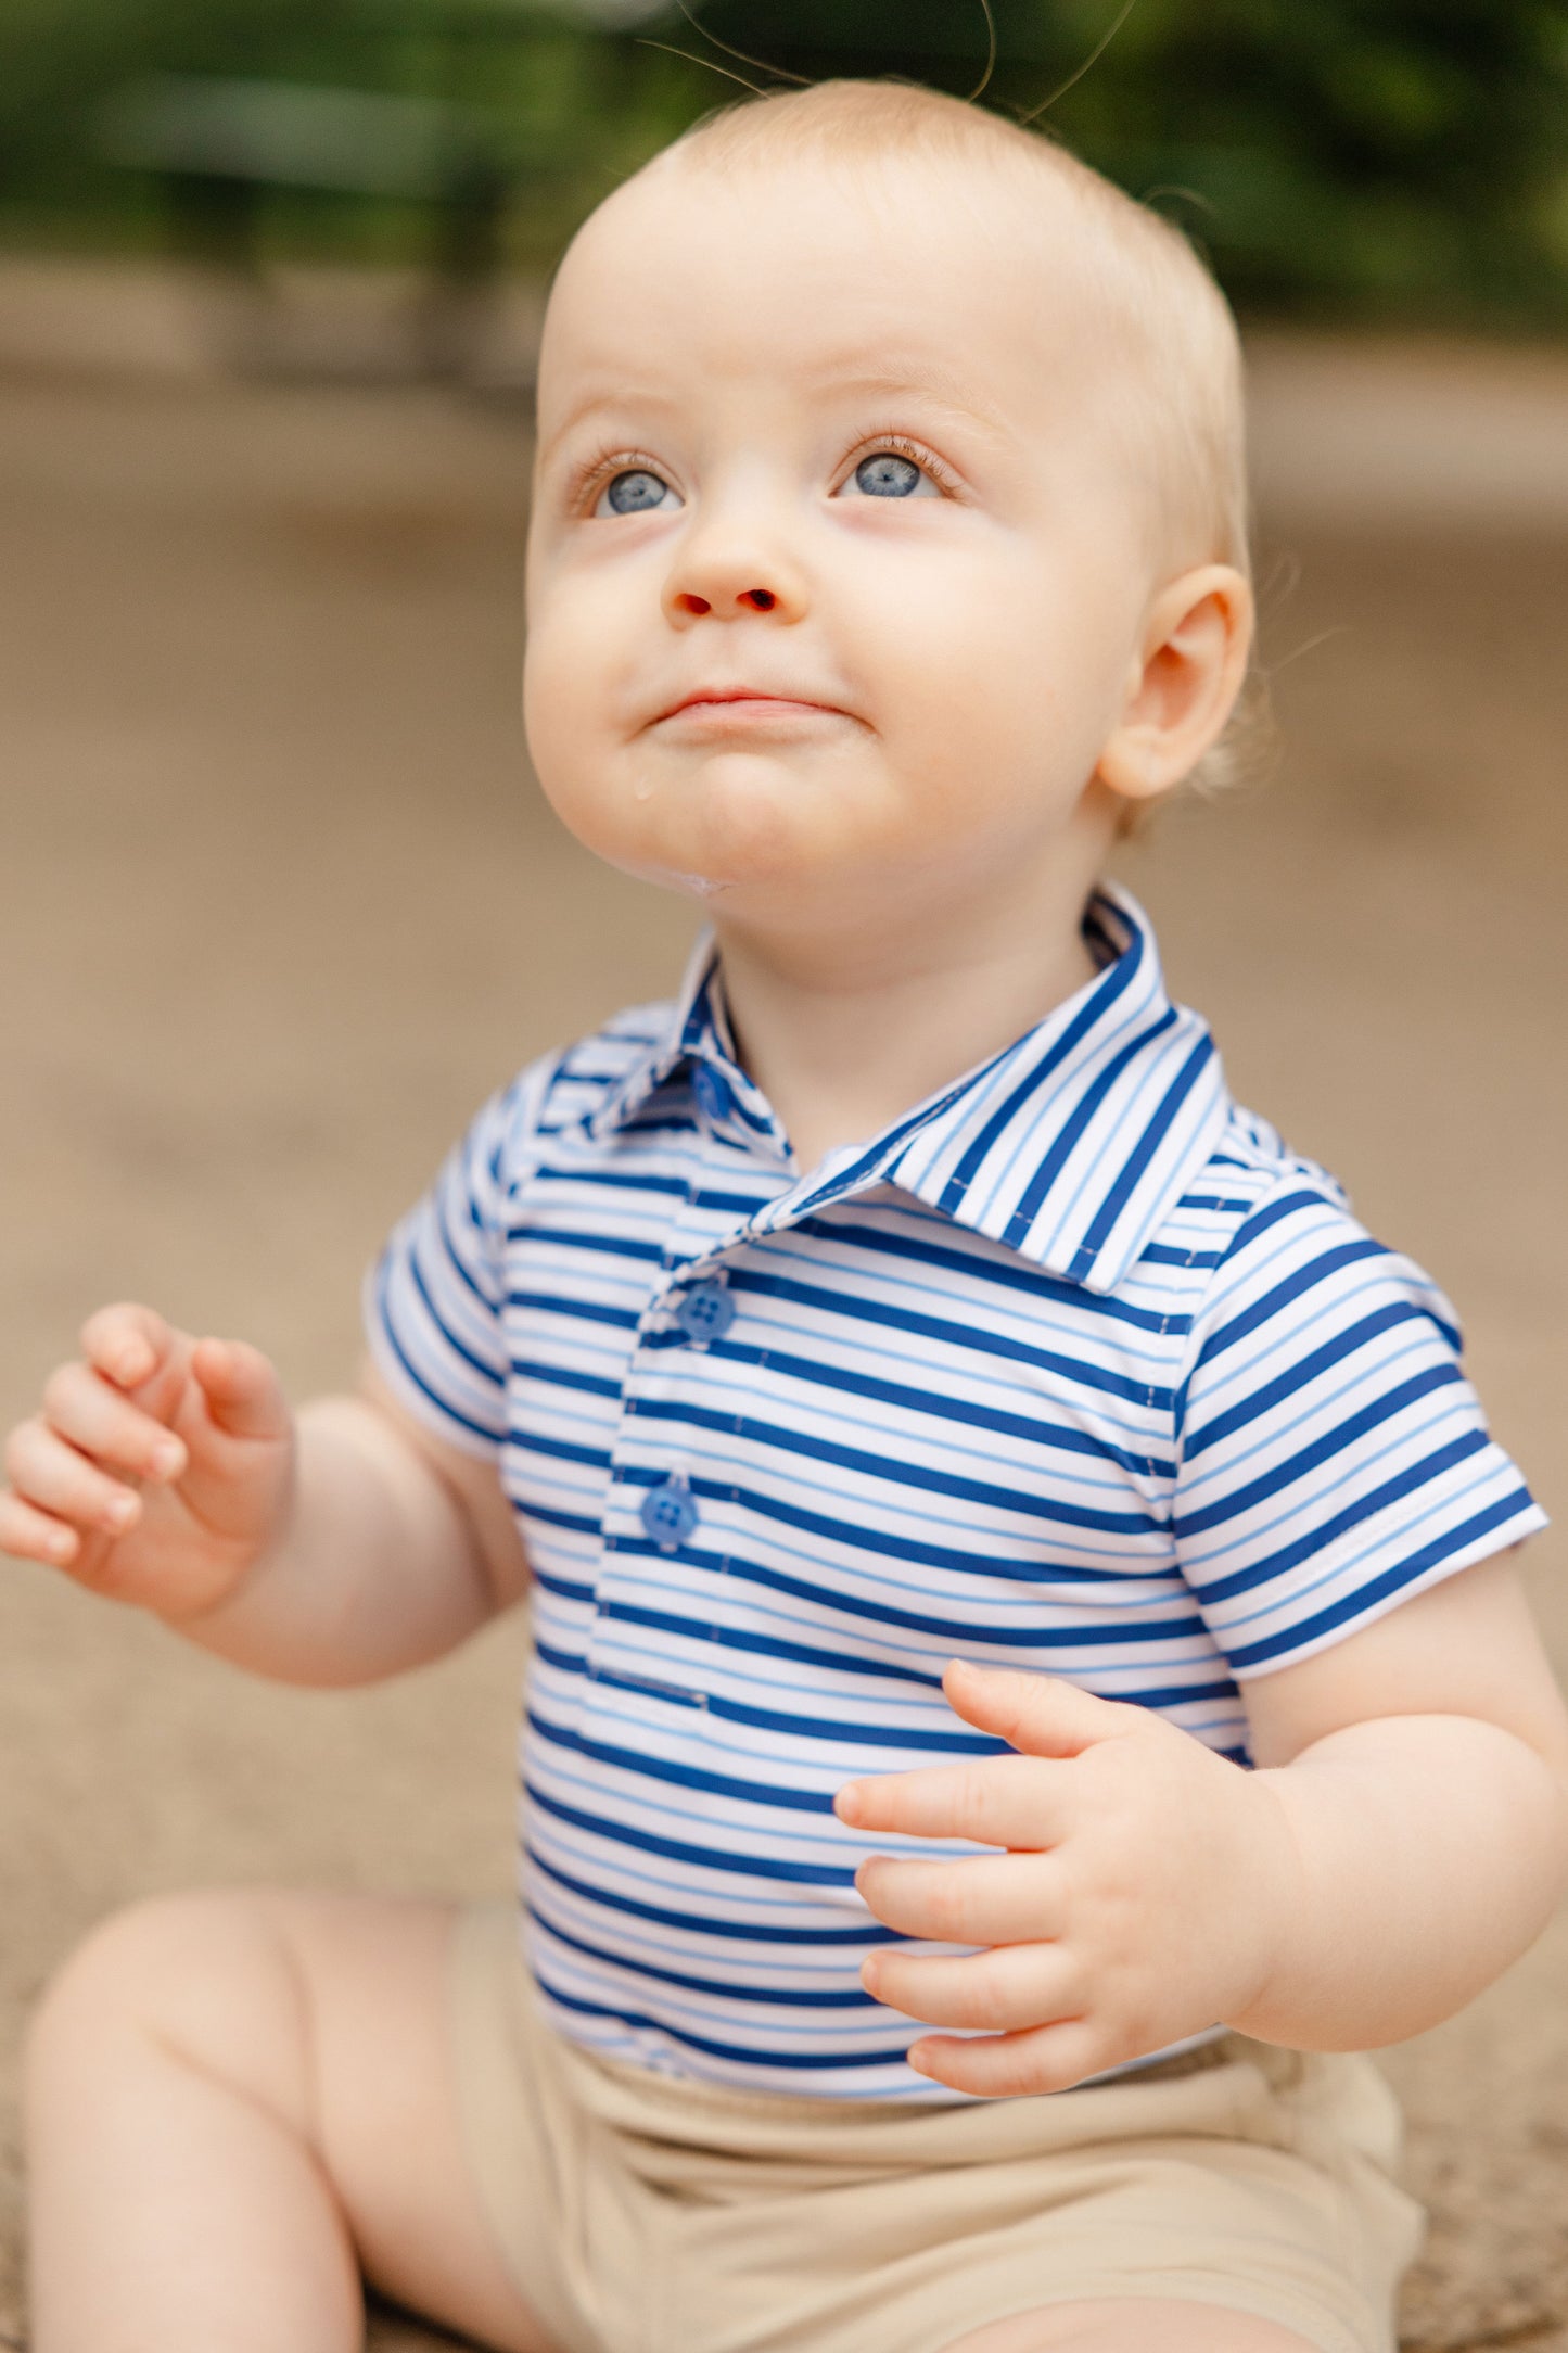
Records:
[[[491,1096],[364,1282],[376,1369],[465,1454],[494,1457],[505,1438],[505,1233],[541,1075]]]

